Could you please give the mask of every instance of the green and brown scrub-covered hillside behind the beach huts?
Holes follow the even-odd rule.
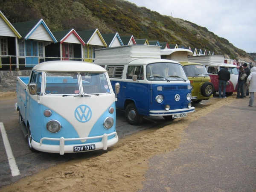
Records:
[[[1,0],[0,10],[11,23],[43,18],[50,30],[98,28],[104,33],[134,35],[252,62],[253,57],[207,28],[160,15],[125,0]]]

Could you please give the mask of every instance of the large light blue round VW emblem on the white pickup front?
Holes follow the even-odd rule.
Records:
[[[87,122],[92,117],[92,110],[87,105],[79,105],[75,110],[75,117],[79,122]]]

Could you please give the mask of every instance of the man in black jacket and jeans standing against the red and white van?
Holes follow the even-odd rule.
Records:
[[[219,98],[226,98],[226,85],[227,81],[230,80],[230,72],[228,71],[228,67],[225,67],[225,69],[221,69],[218,72],[218,80],[219,80]],[[221,88],[223,85],[223,93],[221,95]]]

